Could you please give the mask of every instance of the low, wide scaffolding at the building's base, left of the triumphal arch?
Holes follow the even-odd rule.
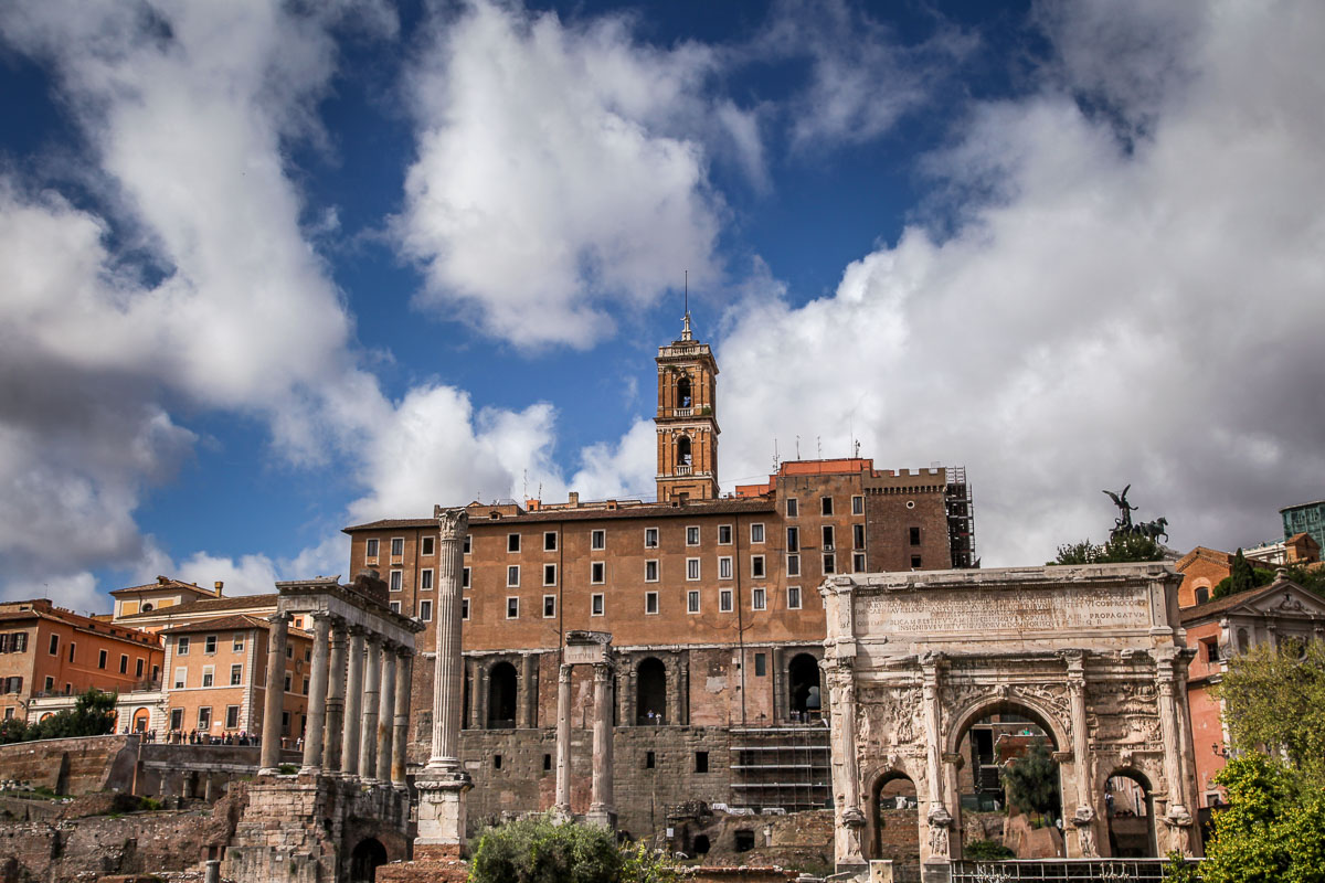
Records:
[[[731,728],[731,805],[799,813],[832,806],[823,723]]]

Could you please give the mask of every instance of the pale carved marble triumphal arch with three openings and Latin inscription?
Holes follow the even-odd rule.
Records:
[[[872,858],[882,785],[908,778],[925,876],[947,878],[970,776],[959,748],[991,715],[1052,743],[1068,858],[1112,854],[1117,777],[1143,790],[1157,855],[1199,855],[1179,580],[1150,563],[825,581],[839,868]]]

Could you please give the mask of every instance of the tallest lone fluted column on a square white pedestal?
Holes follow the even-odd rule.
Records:
[[[473,788],[460,763],[464,655],[460,645],[461,545],[469,530],[462,508],[433,507],[437,519],[437,610],[433,649],[432,751],[415,780],[419,837],[415,858],[458,858],[465,849],[465,792]]]

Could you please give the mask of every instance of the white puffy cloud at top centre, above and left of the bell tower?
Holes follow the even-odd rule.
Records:
[[[713,64],[696,44],[636,44],[620,17],[571,26],[477,0],[439,24],[411,74],[417,159],[395,225],[421,302],[519,346],[588,347],[611,307],[649,303],[678,267],[716,278],[722,205],[681,132],[713,107],[747,165],[762,159],[753,118],[704,98]]]

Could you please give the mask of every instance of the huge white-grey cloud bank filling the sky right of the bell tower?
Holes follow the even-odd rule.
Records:
[[[1325,15],[1215,4],[1102,46],[1064,21],[1112,9],[1061,8],[1034,94],[977,106],[931,158],[963,197],[953,236],[910,226],[832,297],[735,312],[725,474],[761,471],[768,426],[784,451],[855,436],[877,466],[965,463],[986,564],[1101,539],[1100,490],[1129,482],[1178,548],[1273,539],[1280,506],[1320,496]],[[1104,64],[1120,41],[1174,71],[1162,90]],[[1120,139],[1120,119],[1147,122]]]

